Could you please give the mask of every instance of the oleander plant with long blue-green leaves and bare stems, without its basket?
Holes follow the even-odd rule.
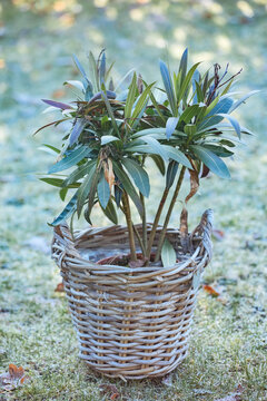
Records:
[[[129,262],[137,262],[138,242],[142,264],[147,265],[151,263],[155,235],[164,217],[154,262],[175,263],[176,254],[166,232],[185,176],[190,177],[185,204],[196,194],[200,178],[209,173],[230,178],[224,159],[234,156],[241,135],[251,134],[233,113],[256,91],[236,99],[240,94],[231,87],[240,71],[229,76],[227,65],[220,74],[218,63],[204,72],[200,62],[188,68],[187,49],[174,72],[166,62],[159,62],[162,85],[146,82],[135,70],[115,85],[113,63],[107,65],[103,50],[97,59],[89,53],[90,74],[76,56],[73,60],[81,80],[65,82],[78,90],[73,101],[43,100],[61,113],[59,119],[44,127],[71,123],[60,148],[44,145],[56,154],[56,163],[41,180],[58,187],[63,202],[69,197],[51,225],[72,219],[76,214],[91,224],[96,205],[117,224],[120,209],[128,227]],[[149,159],[156,164],[165,188],[148,235]],[[132,207],[140,216],[141,235],[132,222]],[[187,229],[186,208],[184,212],[181,229]]]

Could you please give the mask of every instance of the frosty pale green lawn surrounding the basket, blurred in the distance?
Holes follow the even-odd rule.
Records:
[[[110,400],[101,384],[112,382],[128,401],[267,400],[267,1],[2,0],[0,3],[0,373],[22,365],[30,380],[0,401]],[[77,358],[67,302],[55,292],[60,275],[50,260],[51,228],[60,212],[56,190],[37,179],[52,163],[38,150],[60,139],[60,129],[37,137],[46,124],[40,98],[68,100],[61,84],[76,79],[71,55],[86,65],[88,50],[106,47],[119,77],[132,66],[151,80],[158,59],[175,68],[184,48],[205,67],[230,62],[244,91],[263,89],[240,109],[244,138],[229,163],[230,182],[211,176],[188,205],[191,228],[211,207],[214,260],[200,291],[188,358],[168,378],[122,382],[96,375]],[[155,198],[161,187],[151,169]],[[187,188],[181,194],[184,199]],[[152,197],[154,198],[154,197]],[[177,225],[180,213],[172,224]],[[152,214],[156,205],[149,205]],[[80,225],[81,223],[79,223]],[[93,224],[107,222],[98,216]]]

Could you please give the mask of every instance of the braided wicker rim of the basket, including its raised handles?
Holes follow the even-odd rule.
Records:
[[[141,232],[141,225],[136,225],[137,231]],[[151,224],[147,225],[148,234],[151,231]],[[158,237],[160,234],[161,227],[158,226],[157,234],[155,237],[154,247],[157,246]],[[199,261],[199,257],[204,258],[205,266],[208,264],[212,256],[212,243],[211,243],[211,232],[212,232],[212,211],[207,209],[204,212],[200,223],[192,231],[191,234],[188,234],[188,244],[189,244],[189,254],[180,253],[180,262],[177,262],[172,266],[162,267],[154,266],[150,264],[146,267],[127,267],[119,265],[100,265],[92,261],[83,258],[79,250],[85,248],[97,248],[101,244],[101,248],[110,248],[116,244],[116,247],[121,247],[122,250],[128,247],[128,236],[127,227],[122,225],[113,225],[109,227],[89,227],[83,231],[76,231],[73,237],[70,233],[69,226],[67,223],[63,223],[59,226],[56,226],[53,229],[53,241],[52,241],[52,258],[56,261],[57,265],[61,270],[71,268],[90,268],[91,273],[97,274],[98,272],[101,275],[115,273],[129,274],[129,281],[137,280],[137,275],[131,276],[131,274],[139,273],[138,277],[140,280],[152,277],[154,275],[160,274],[162,277],[176,274],[184,268],[188,267],[190,264],[195,264]],[[119,243],[119,241],[122,243]],[[168,228],[167,238],[175,246],[175,248],[180,247],[180,233],[176,228]],[[182,251],[182,250],[180,250]],[[149,276],[148,276],[149,273]]]

